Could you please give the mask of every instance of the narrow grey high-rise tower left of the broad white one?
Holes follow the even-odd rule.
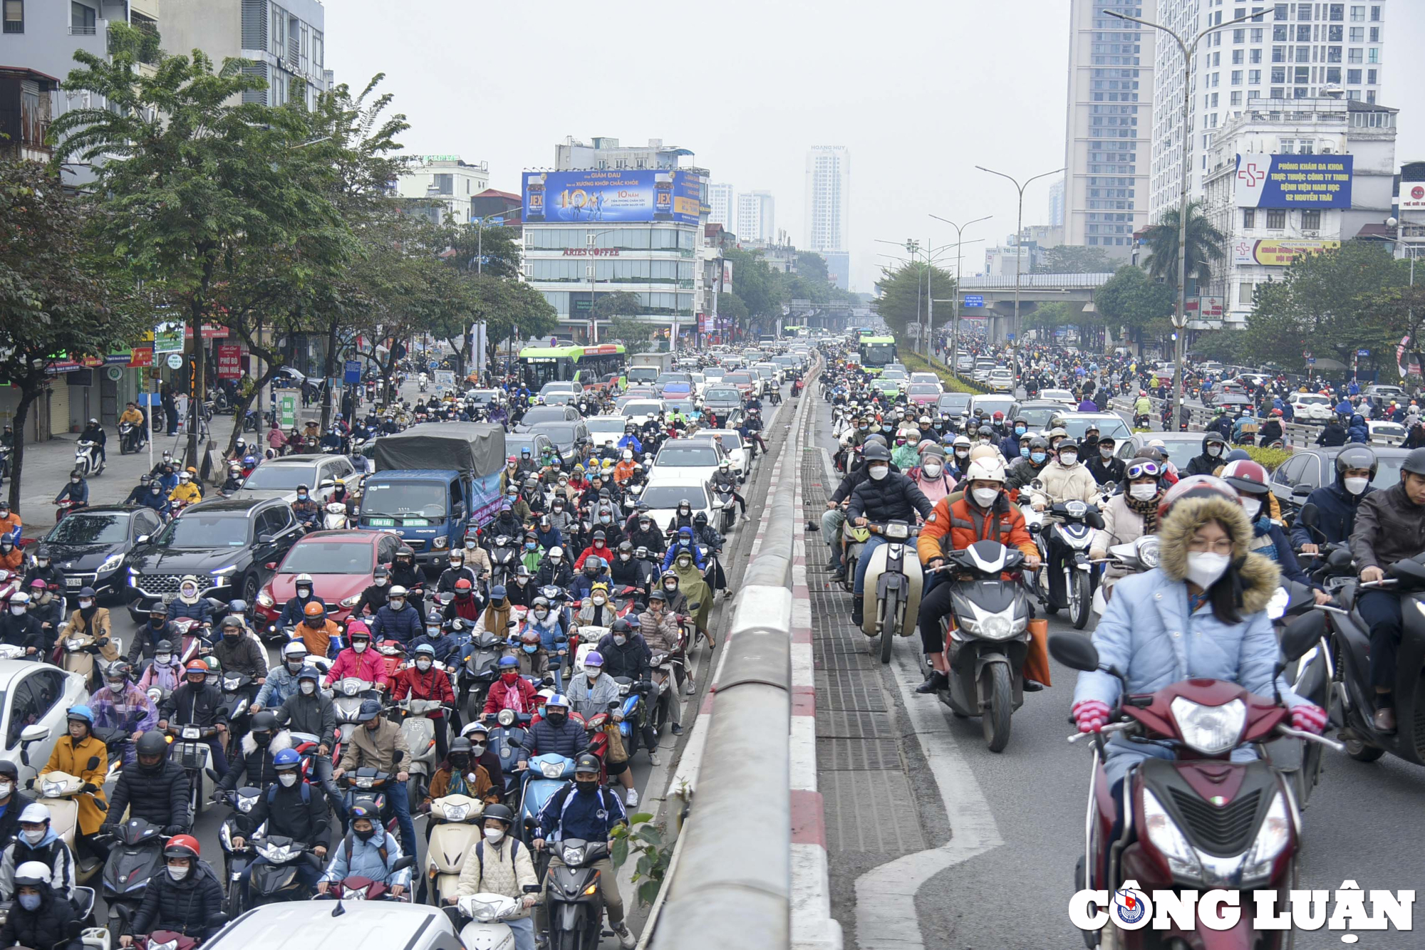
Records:
[[[1059,218],[1064,244],[1129,256],[1149,219],[1153,33],[1103,10],[1151,20],[1164,0],[1072,0],[1069,105]]]

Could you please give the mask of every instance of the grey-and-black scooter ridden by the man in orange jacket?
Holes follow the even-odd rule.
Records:
[[[1002,575],[1019,570],[1025,555],[999,541],[976,541],[950,551],[950,615],[940,621],[949,684],[938,691],[956,716],[980,716],[985,745],[1003,752],[1010,718],[1025,702],[1029,645],[1029,594],[1022,581]]]

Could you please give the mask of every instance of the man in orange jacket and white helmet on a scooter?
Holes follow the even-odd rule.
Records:
[[[926,518],[916,553],[926,568],[940,567],[948,551],[968,548],[976,541],[999,541],[1025,554],[1025,567],[1039,567],[1039,547],[1025,527],[1025,516],[1005,494],[1005,460],[996,453],[973,459],[965,473],[965,494],[955,504],[940,499]],[[919,694],[933,694],[949,685],[945,664],[945,638],[940,620],[950,612],[950,584],[936,584],[921,601],[921,645],[931,658],[931,677],[916,687]],[[1026,681],[1026,688],[1030,688]]]

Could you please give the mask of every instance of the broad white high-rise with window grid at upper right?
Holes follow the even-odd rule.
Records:
[[[1197,47],[1186,141],[1188,195],[1203,197],[1214,137],[1253,100],[1318,98],[1340,88],[1347,101],[1375,103],[1385,68],[1387,7],[1388,0],[1159,0],[1157,21],[1186,36],[1261,13],[1211,33]],[[1183,175],[1183,54],[1171,37],[1159,36],[1154,63],[1149,215],[1156,221],[1177,207]]]

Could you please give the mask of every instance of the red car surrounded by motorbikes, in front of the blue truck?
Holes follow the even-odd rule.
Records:
[[[276,573],[258,593],[256,614],[276,622],[296,597],[296,575],[311,574],[314,593],[328,617],[341,622],[372,583],[378,564],[396,560],[400,537],[389,531],[314,531],[292,546]]]

